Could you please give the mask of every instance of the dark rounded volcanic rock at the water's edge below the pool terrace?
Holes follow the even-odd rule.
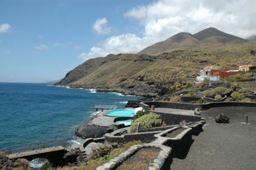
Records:
[[[77,128],[75,133],[77,136],[82,137],[83,139],[87,139],[102,137],[105,135],[105,133],[107,133],[107,131],[109,131],[107,127],[95,126],[93,124],[88,125],[87,123],[83,123]]]

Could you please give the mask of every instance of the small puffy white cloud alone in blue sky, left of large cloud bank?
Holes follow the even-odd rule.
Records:
[[[93,30],[97,34],[109,34],[111,32],[111,27],[107,26],[107,18],[99,18],[93,24]]]

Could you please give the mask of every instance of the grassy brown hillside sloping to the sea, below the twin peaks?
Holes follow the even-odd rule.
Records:
[[[179,79],[195,77],[199,67],[206,64],[229,66],[233,69],[237,69],[239,64],[256,64],[256,56],[250,54],[250,50],[255,48],[256,42],[215,43],[212,46],[201,44],[189,50],[163,52],[158,55],[108,55],[106,58],[86,61],[59,84],[104,88],[125,94],[157,95],[162,88],[169,87]],[[94,64],[89,67],[88,63]],[[75,75],[78,77],[74,78]],[[76,81],[72,82],[74,79]]]

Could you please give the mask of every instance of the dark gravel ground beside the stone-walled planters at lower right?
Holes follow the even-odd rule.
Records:
[[[215,123],[219,114],[229,116],[230,123]],[[250,124],[244,123],[245,115]],[[256,108],[211,108],[202,117],[204,131],[193,136],[185,159],[174,157],[171,169],[256,169]]]

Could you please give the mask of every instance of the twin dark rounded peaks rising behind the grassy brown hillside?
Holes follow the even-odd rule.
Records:
[[[155,43],[146,47],[138,54],[159,54],[165,51],[183,50],[193,48],[195,46],[203,46],[204,44],[226,44],[226,43],[242,43],[246,39],[235,37],[219,31],[213,27],[202,30],[196,34],[178,33],[165,41]]]

